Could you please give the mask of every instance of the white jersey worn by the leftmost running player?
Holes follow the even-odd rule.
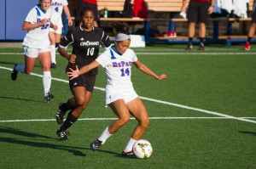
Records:
[[[43,19],[47,19],[47,23],[29,30],[24,38],[23,45],[29,48],[48,48],[49,47],[49,25],[50,25],[50,10],[44,12],[39,5],[35,6],[30,10],[26,16],[26,22],[36,24]]]

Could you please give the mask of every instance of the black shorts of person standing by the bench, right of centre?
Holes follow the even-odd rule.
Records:
[[[200,3],[196,1],[190,1],[188,8],[188,22],[208,24],[210,21],[208,14],[209,7],[209,2]]]

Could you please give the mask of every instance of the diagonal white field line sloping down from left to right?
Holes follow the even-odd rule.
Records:
[[[2,67],[2,66],[0,66],[0,69],[12,70],[10,68],[6,68],[6,67]],[[38,75],[36,73],[32,73],[31,75],[43,77],[42,75]],[[68,83],[67,80],[63,80],[63,79],[59,79],[59,78],[53,78],[52,77],[52,80],[59,81],[59,82],[67,82]],[[95,87],[95,88],[98,89],[98,90],[101,90],[101,91],[105,91],[105,89],[102,88],[102,87]],[[210,114],[210,115],[218,115],[218,116],[221,116],[221,117],[235,119],[237,121],[246,121],[246,122],[251,122],[251,123],[255,123],[256,124],[256,121],[252,121],[252,120],[248,120],[248,119],[245,119],[245,118],[236,117],[236,116],[232,116],[232,115],[225,115],[225,114],[214,112],[214,111],[210,111],[210,110],[202,110],[202,109],[198,109],[198,108],[194,108],[194,107],[189,107],[187,105],[174,104],[174,103],[171,103],[171,102],[161,101],[161,100],[158,100],[158,99],[149,99],[149,98],[142,97],[142,96],[140,96],[140,98],[144,99],[144,100],[152,101],[152,102],[155,102],[155,103],[172,105],[172,106],[180,107],[180,108],[187,109],[187,110],[200,111],[200,112],[207,113],[207,114]]]

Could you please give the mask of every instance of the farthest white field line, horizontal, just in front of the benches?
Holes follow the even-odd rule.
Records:
[[[256,53],[158,53],[158,52],[151,52],[151,53],[142,53],[142,52],[137,52],[136,54],[140,54],[140,55],[152,55],[152,54],[158,54],[158,55],[219,55],[219,54],[224,54],[224,55],[252,55],[252,54],[256,54]],[[0,53],[0,55],[23,55],[21,53]]]

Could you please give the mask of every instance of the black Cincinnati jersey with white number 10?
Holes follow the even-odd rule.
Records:
[[[72,54],[76,55],[76,61],[75,64],[69,63],[67,67],[75,69],[75,65],[78,65],[80,69],[98,57],[100,44],[104,48],[108,48],[111,42],[102,28],[93,27],[92,31],[84,31],[81,26],[78,26],[68,31],[67,36],[61,40],[62,47],[66,48],[69,44],[73,44]],[[86,75],[96,74],[97,68],[86,73]]]

